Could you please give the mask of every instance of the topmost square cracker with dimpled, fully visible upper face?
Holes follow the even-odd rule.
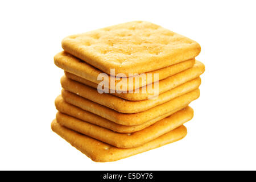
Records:
[[[71,35],[61,42],[64,51],[101,71],[115,75],[144,73],[199,55],[200,45],[156,24],[135,21]]]

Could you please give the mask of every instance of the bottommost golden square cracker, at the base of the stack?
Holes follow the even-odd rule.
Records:
[[[182,125],[175,130],[143,144],[142,146],[135,148],[117,148],[104,142],[100,142],[99,140],[87,137],[86,135],[79,134],[76,131],[67,129],[57,123],[56,119],[52,121],[51,128],[55,133],[60,135],[60,137],[67,140],[67,142],[69,142],[73,147],[76,147],[77,150],[80,150],[94,162],[112,162],[127,158],[132,155],[164,146],[168,143],[176,142],[187,135],[187,129]]]

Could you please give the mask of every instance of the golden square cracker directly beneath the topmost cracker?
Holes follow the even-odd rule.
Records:
[[[81,78],[84,78],[88,81],[94,82],[96,84],[100,84],[101,80],[97,80],[98,75],[102,73],[97,68],[92,67],[91,65],[85,63],[84,61],[81,61],[80,59],[77,59],[76,57],[70,55],[67,52],[59,52],[57,55],[54,56],[54,63],[57,65],[57,67],[64,69],[66,74],[74,74],[76,76],[79,76]],[[172,75],[175,75],[176,73],[182,72],[188,68],[193,67],[193,64],[195,64],[195,59],[190,59],[183,61],[181,63],[177,63],[174,65],[171,65],[169,67],[165,67],[162,69],[157,69],[152,72],[145,73],[146,81],[139,81],[135,82],[137,78],[139,78],[139,75],[133,77],[133,82],[127,82],[126,88],[118,88],[118,91],[129,91],[129,90],[135,90],[138,88],[141,88],[142,86],[152,84],[154,81],[154,74],[158,73],[158,80],[163,80],[164,78],[170,77]],[[152,76],[152,80],[150,80]],[[108,75],[109,79],[109,88],[110,88],[110,75]],[[122,81],[123,78],[120,78],[120,80],[115,80],[115,85],[118,84],[118,82]]]

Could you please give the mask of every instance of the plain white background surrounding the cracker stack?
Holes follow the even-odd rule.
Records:
[[[256,169],[255,1],[1,1],[0,169]],[[195,117],[179,142],[94,163],[51,131],[68,35],[147,20],[201,45]]]

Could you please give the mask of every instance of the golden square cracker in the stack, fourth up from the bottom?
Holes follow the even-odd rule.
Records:
[[[173,110],[176,110],[181,106],[188,105],[193,100],[196,100],[200,96],[200,91],[199,89],[193,90],[192,92],[183,94],[182,96],[176,97],[171,101],[165,102],[164,104],[155,106],[140,113],[133,114],[119,113],[113,109],[110,109],[109,107],[86,100],[85,98],[77,96],[76,94],[66,90],[62,90],[61,95],[69,104],[80,107],[81,109],[89,111],[90,113],[100,115],[100,117],[109,119],[110,121],[118,123],[119,125],[134,126],[141,125],[142,123],[151,121],[152,119],[155,119],[155,122],[163,119],[158,118],[164,114],[172,113]],[[167,116],[168,115],[166,115],[166,117]]]

